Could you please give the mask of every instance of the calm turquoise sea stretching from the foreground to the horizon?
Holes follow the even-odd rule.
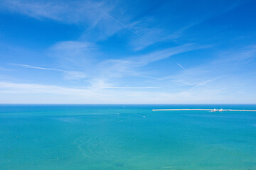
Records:
[[[1,170],[256,169],[256,105],[0,105]]]

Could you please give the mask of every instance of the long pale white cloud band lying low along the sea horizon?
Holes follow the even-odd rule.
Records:
[[[240,96],[240,93],[234,93],[233,96],[230,96],[223,94],[221,89],[212,88],[174,93],[130,91],[129,89],[120,89],[119,91],[100,89],[95,91],[95,89],[17,84],[5,81],[0,81],[0,94],[1,103],[120,103],[120,101],[121,103],[227,103],[227,98],[229,99],[228,103],[246,103],[252,100],[251,96],[246,94]],[[24,101],[21,97],[22,94],[27,94],[32,98]],[[38,96],[38,94],[41,95]]]

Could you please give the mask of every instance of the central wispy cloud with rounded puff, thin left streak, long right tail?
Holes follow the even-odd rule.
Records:
[[[38,67],[31,64],[15,65],[27,69],[60,72],[66,80],[85,79],[90,84],[90,87],[94,89],[155,89],[158,87],[119,86],[118,79],[121,80],[124,77],[146,78],[148,75],[139,70],[143,69],[147,64],[164,60],[183,52],[206,47],[208,46],[187,44],[156,52],[148,52],[144,55],[124,57],[118,60],[109,59],[99,61],[99,55],[101,54],[97,52],[97,47],[94,44],[90,42],[65,41],[58,42],[53,47],[50,47],[50,55],[58,59],[59,68]],[[77,71],[73,71],[74,69]],[[116,80],[115,83],[113,83],[112,79]]]

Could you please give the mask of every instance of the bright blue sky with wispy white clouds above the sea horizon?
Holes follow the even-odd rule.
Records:
[[[0,1],[0,103],[255,103],[256,1]]]

